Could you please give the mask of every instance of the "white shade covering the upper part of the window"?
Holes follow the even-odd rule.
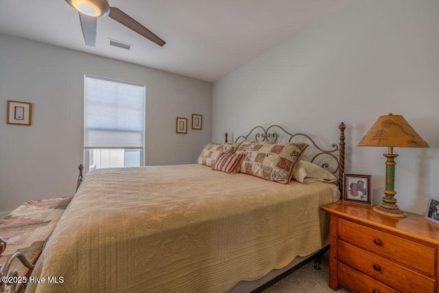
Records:
[[[85,75],[84,148],[143,148],[145,86]]]

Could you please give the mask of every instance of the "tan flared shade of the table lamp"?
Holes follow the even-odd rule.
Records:
[[[379,117],[358,145],[429,148],[428,143],[405,121],[403,116],[392,115],[392,113]]]

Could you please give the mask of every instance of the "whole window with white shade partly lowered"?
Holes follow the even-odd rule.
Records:
[[[85,75],[85,172],[143,165],[145,86]]]

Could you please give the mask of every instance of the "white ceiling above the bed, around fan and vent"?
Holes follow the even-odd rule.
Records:
[[[163,38],[163,47],[108,16],[86,47],[64,0],[0,0],[0,32],[214,82],[350,0],[108,0]],[[108,38],[132,45],[111,47]],[[1,52],[0,52],[1,54]]]

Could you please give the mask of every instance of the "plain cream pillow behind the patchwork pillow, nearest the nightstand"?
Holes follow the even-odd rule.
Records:
[[[294,170],[293,178],[300,183],[311,183],[315,181],[334,183],[337,181],[337,177],[328,170],[303,160],[299,162],[298,167]]]

